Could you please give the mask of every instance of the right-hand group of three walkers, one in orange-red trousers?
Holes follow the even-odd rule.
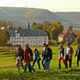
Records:
[[[66,68],[72,67],[72,56],[73,56],[73,48],[71,47],[70,43],[67,44],[67,48],[64,51],[64,47],[61,44],[59,47],[59,69],[61,69],[61,60],[63,60],[63,63]],[[78,45],[75,53],[75,57],[77,56],[77,66],[79,66],[80,61],[80,44]],[[69,62],[69,65],[68,65]]]

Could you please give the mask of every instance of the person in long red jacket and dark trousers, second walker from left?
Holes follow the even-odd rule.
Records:
[[[24,60],[26,62],[24,72],[26,72],[27,67],[29,68],[29,72],[32,72],[32,70],[34,70],[30,64],[30,62],[32,61],[32,50],[28,44],[26,44]]]

